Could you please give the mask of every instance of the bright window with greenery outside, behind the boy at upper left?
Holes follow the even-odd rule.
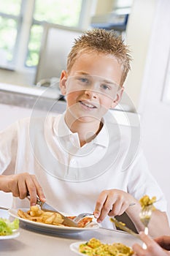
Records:
[[[52,23],[82,29],[85,17],[83,14],[89,10],[90,2],[0,0],[0,67],[36,67],[43,24]]]

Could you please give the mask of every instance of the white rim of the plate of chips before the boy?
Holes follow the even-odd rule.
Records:
[[[29,219],[23,219],[23,218],[19,217],[17,214],[18,209],[21,209],[22,211],[29,210],[29,208],[10,208],[8,210],[9,215],[14,218],[20,219],[20,221],[25,222],[28,225],[34,226],[34,228],[37,227],[38,229],[44,227],[45,230],[46,229],[47,230],[55,230],[56,232],[59,232],[59,231],[63,232],[63,230],[65,230],[68,232],[73,231],[73,232],[78,233],[78,232],[82,232],[82,231],[96,230],[99,228],[99,225],[96,222],[93,222],[93,226],[91,226],[91,227],[90,226],[88,226],[88,227],[66,227],[66,226],[50,225],[50,224],[45,224],[45,223],[41,223],[41,222],[33,222]]]

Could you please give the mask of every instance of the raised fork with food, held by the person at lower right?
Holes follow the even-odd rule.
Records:
[[[152,216],[153,208],[154,208],[154,206],[152,206],[152,204],[149,206],[144,206],[144,208],[142,208],[142,211],[140,211],[140,213],[139,213],[139,218],[144,225],[144,233],[146,235],[148,235],[148,233],[149,233],[148,224],[149,224],[150,218]],[[146,244],[143,244],[143,249],[147,249]]]

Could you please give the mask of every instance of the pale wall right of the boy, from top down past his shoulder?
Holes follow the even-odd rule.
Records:
[[[134,61],[125,88],[141,116],[144,154],[166,195],[170,219],[170,105],[161,100],[170,52],[169,12],[169,0],[134,0],[127,30]]]

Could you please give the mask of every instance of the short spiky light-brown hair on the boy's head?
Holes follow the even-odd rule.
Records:
[[[131,69],[131,55],[128,46],[123,39],[113,30],[91,29],[86,31],[77,39],[67,58],[67,71],[72,69],[74,62],[81,53],[103,53],[115,56],[123,69],[120,86],[123,85],[128,71]]]

